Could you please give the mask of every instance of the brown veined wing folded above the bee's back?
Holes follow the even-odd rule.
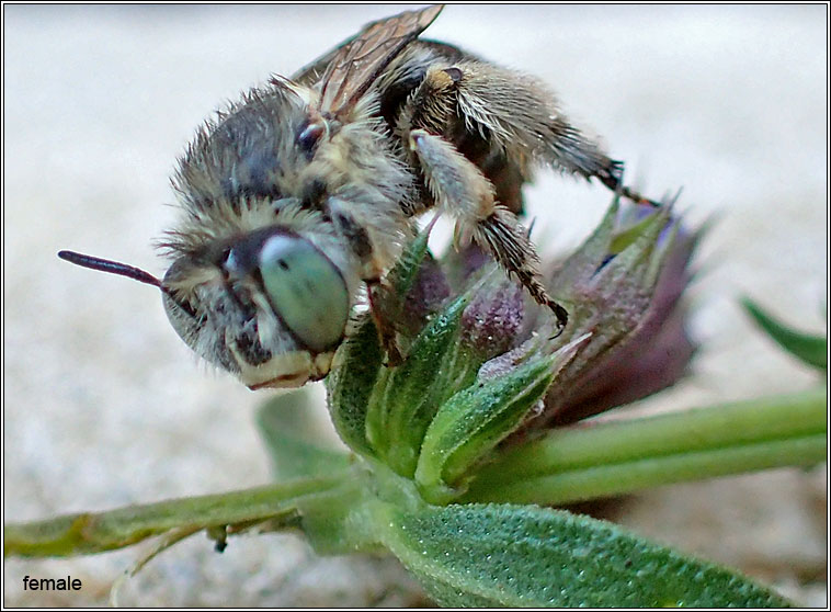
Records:
[[[389,63],[418,38],[442,9],[443,5],[437,4],[368,23],[356,36],[300,70],[300,75],[307,76],[331,57],[320,79],[321,112],[340,115],[352,109]]]

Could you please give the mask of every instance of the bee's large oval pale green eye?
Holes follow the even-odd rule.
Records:
[[[260,251],[260,272],[277,316],[309,349],[340,341],[350,299],[343,276],[308,240],[277,235]]]

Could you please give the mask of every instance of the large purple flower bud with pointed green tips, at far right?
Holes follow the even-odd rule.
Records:
[[[553,279],[555,295],[573,304],[566,339],[584,332],[592,338],[560,374],[531,427],[574,422],[684,375],[695,345],[680,298],[698,238],[680,227],[670,206],[646,216],[618,215],[617,204],[612,206]]]

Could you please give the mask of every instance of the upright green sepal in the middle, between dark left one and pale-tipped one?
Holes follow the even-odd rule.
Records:
[[[457,343],[468,297],[453,302],[419,333],[405,362],[385,369],[369,399],[366,427],[373,447],[398,474],[411,477],[419,449],[452,374],[448,353]]]

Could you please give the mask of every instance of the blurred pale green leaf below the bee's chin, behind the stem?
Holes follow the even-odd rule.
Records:
[[[277,395],[260,407],[257,424],[271,455],[277,481],[331,475],[346,469],[346,453],[320,444],[307,389]]]

